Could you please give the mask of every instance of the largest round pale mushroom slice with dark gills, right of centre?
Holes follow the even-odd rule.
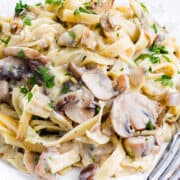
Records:
[[[150,120],[154,125],[158,111],[158,103],[140,93],[122,94],[114,100],[111,110],[114,131],[121,137],[132,136],[135,130],[146,129]]]

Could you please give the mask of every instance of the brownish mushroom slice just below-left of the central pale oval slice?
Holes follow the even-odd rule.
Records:
[[[82,123],[95,115],[94,96],[85,88],[79,91],[77,101],[65,106],[65,114],[76,123]]]

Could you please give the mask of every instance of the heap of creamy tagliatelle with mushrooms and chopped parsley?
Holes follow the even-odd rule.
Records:
[[[0,155],[80,180],[150,171],[179,130],[180,48],[140,2],[19,1],[0,18]]]

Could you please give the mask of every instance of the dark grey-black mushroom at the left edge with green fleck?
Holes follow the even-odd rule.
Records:
[[[21,80],[28,72],[25,62],[15,57],[7,57],[0,60],[0,79]]]

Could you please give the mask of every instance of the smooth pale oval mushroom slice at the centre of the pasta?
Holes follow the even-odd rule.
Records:
[[[84,72],[82,81],[98,99],[109,100],[117,94],[113,89],[110,78],[100,69]]]

